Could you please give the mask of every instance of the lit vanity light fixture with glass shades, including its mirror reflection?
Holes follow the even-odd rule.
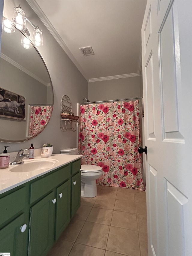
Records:
[[[17,29],[21,30],[24,33],[24,35],[26,35],[26,37],[24,35],[22,35],[21,45],[26,49],[30,49],[32,47],[32,44],[31,44],[30,40],[28,39],[28,37],[30,36],[30,33],[29,33],[29,30],[26,27],[26,21],[28,21],[32,25],[32,27],[34,28],[33,39],[32,39],[33,43],[35,44],[35,46],[38,46],[38,47],[42,46],[43,45],[43,33],[42,33],[42,31],[39,29],[38,26],[35,26],[26,17],[25,11],[22,10],[20,5],[18,7],[14,8],[12,23],[11,23],[10,20],[7,20],[7,19],[4,20],[3,29],[7,33],[15,32],[14,26]]]

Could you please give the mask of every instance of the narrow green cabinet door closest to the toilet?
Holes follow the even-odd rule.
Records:
[[[81,173],[71,178],[71,218],[79,209],[81,204]]]

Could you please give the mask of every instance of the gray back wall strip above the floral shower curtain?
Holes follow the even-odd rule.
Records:
[[[134,97],[141,97],[139,76],[88,83],[89,101],[105,101]]]

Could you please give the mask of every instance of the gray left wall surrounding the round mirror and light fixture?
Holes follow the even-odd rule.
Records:
[[[0,142],[0,152],[4,150],[4,145],[10,146],[9,152],[14,152],[22,148],[29,148],[31,143],[34,144],[35,148],[41,148],[42,144],[47,142],[53,144],[54,153],[60,153],[60,149],[76,146],[76,133],[72,131],[62,132],[60,129],[61,97],[63,95],[69,96],[72,102],[72,111],[76,113],[76,104],[87,97],[88,83],[26,1],[5,0],[4,16],[12,20],[14,7],[18,6],[19,3],[31,22],[35,25],[38,24],[43,31],[44,45],[38,47],[38,50],[52,80],[54,107],[51,119],[41,134],[32,140],[21,143]],[[27,27],[32,39],[33,28],[29,23]],[[1,136],[3,137],[3,135]]]

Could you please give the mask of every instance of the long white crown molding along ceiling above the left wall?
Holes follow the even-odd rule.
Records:
[[[52,36],[55,38],[55,40],[58,42],[58,44],[61,46],[61,48],[64,50],[64,52],[67,54],[67,56],[70,58],[70,60],[74,63],[74,65],[78,68],[78,70],[81,72],[83,77],[88,81],[88,77],[73,56],[73,54],[70,52],[69,48],[67,45],[64,43],[64,41],[61,39],[60,35],[57,33],[55,28],[52,26],[50,21],[47,19],[46,15],[44,12],[41,10],[39,5],[35,0],[26,0],[28,4],[31,6],[33,11],[38,15],[39,19],[43,22],[43,24],[46,26],[46,28],[49,30],[49,32],[52,34]]]

